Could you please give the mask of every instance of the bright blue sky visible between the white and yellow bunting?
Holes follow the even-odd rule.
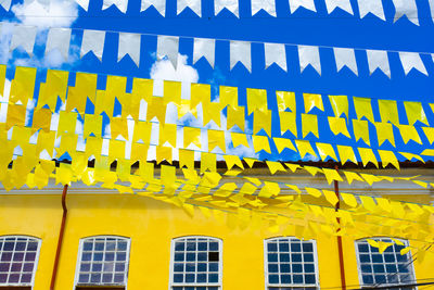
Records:
[[[155,63],[156,37],[142,36],[141,62],[137,67],[129,59],[124,59],[117,63],[118,37],[114,31],[434,53],[434,38],[432,37],[434,35],[434,24],[431,18],[427,0],[416,0],[419,8],[420,26],[409,22],[405,16],[394,23],[395,9],[392,0],[383,0],[386,22],[371,14],[360,20],[357,1],[352,0],[350,2],[355,15],[349,15],[340,9],[328,14],[323,0],[315,0],[318,12],[301,8],[295,13],[290,14],[288,0],[277,0],[278,17],[271,17],[264,11],[251,16],[250,1],[240,0],[240,18],[237,18],[228,11],[222,11],[219,15],[214,16],[213,1],[203,1],[203,17],[199,17],[189,10],[176,15],[176,0],[167,0],[167,13],[163,17],[153,8],[140,13],[140,0],[129,0],[126,14],[119,12],[115,7],[102,11],[102,0],[90,0],[88,12],[78,8],[78,17],[71,25],[72,28],[77,28],[73,33],[73,43],[77,46],[73,46],[69,50],[69,61],[72,62],[61,65],[60,68],[150,78],[151,67]],[[13,1],[13,3],[18,2]],[[71,15],[73,14],[72,12]],[[3,21],[16,21],[13,13],[1,11],[1,8],[0,15]],[[28,22],[29,18],[31,16],[26,17],[25,22]],[[36,18],[34,17],[33,21]],[[58,22],[52,27],[64,26],[62,22]],[[82,34],[80,29],[82,28],[113,31],[106,35],[102,62],[91,54],[78,60],[77,55],[79,54]],[[40,33],[40,36],[41,45],[35,48],[34,59],[43,56],[44,34]],[[275,90],[295,91],[298,112],[303,112],[303,92],[420,102],[431,102],[433,96],[434,64],[430,55],[422,56],[430,76],[417,71],[412,71],[406,76],[397,53],[390,53],[392,71],[392,78],[390,79],[379,71],[371,76],[369,75],[367,56],[362,51],[356,51],[359,68],[359,76],[356,76],[347,68],[336,73],[332,49],[320,48],[322,66],[320,76],[311,67],[306,68],[304,73],[299,72],[295,47],[286,47],[288,72],[284,72],[277,65],[265,70],[264,47],[260,43],[254,43],[252,47],[252,73],[241,64],[238,64],[232,71],[229,70],[228,41],[217,41],[216,65],[214,68],[204,59],[192,65],[192,39],[180,40],[179,52],[188,56],[186,65],[193,66],[196,70],[199,83],[213,84],[215,86],[226,85],[240,88],[268,89],[270,90],[269,109],[271,110],[276,110],[276,98],[272,98],[273,96],[271,94]],[[10,64],[16,63],[16,59],[27,58],[24,53],[17,51],[12,56],[9,61]],[[30,60],[27,60],[27,62],[41,65]],[[42,66],[47,68],[47,65]],[[40,75],[43,79],[43,72]],[[101,80],[101,84],[103,84],[103,77]],[[320,134],[321,131],[328,131],[326,117],[333,115],[327,98],[323,98],[323,100],[326,112],[318,112],[320,115]],[[240,94],[239,103],[240,105],[245,105],[245,94]],[[430,124],[434,126],[434,114],[427,106],[424,109]],[[403,105],[398,106],[398,110],[404,113]],[[374,114],[376,114],[375,117],[379,117],[378,112],[375,113],[375,108]],[[355,112],[350,110],[350,118],[354,117]],[[273,115],[273,119],[276,118],[277,114]],[[279,135],[279,128],[273,127],[273,136],[278,137]],[[291,134],[288,133],[288,136],[291,136]],[[331,135],[326,136],[324,134],[320,136],[323,137],[321,139],[322,142],[356,144],[342,136],[334,137]],[[375,137],[371,134],[372,138]],[[311,136],[307,139],[319,141]],[[412,141],[405,146],[399,139],[397,140],[398,150],[407,152],[422,151],[421,146],[417,146]],[[422,140],[424,141],[423,147],[426,148],[429,146],[426,139],[423,137]],[[362,142],[359,141],[357,144],[360,146]],[[381,149],[392,150],[393,148],[385,144]],[[280,157],[289,159],[295,156],[282,155]]]

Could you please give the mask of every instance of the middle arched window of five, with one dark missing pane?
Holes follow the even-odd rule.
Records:
[[[220,239],[182,237],[171,241],[170,289],[221,289]]]

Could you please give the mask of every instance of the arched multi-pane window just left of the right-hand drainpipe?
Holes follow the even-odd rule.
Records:
[[[317,244],[291,237],[265,240],[266,288],[317,289]]]

